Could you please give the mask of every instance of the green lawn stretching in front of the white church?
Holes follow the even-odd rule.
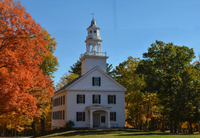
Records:
[[[41,138],[200,138],[198,134],[170,134],[163,132],[147,132],[136,129],[95,129],[95,130],[71,130],[54,133]]]

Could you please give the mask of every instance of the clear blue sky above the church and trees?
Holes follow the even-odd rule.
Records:
[[[119,65],[140,57],[156,40],[194,49],[200,54],[200,0],[20,0],[21,4],[58,43],[60,67],[55,84],[85,53],[87,27],[101,28],[102,52]],[[198,59],[198,58],[196,58]]]

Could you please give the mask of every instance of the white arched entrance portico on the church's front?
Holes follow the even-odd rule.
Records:
[[[112,107],[93,105],[86,107],[88,112],[87,122],[90,128],[107,127],[110,128],[110,109]]]

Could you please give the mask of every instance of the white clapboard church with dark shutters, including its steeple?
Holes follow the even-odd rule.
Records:
[[[125,127],[126,88],[106,74],[108,57],[101,52],[100,28],[94,18],[87,31],[81,76],[54,94],[52,129],[69,120],[75,128]]]

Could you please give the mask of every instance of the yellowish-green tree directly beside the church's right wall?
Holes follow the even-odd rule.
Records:
[[[128,57],[113,70],[113,78],[127,88],[125,93],[127,123],[135,125],[136,128],[139,125],[141,128],[145,122],[147,129],[148,120],[156,109],[156,96],[144,91],[144,79],[136,72],[139,61],[138,58]]]

